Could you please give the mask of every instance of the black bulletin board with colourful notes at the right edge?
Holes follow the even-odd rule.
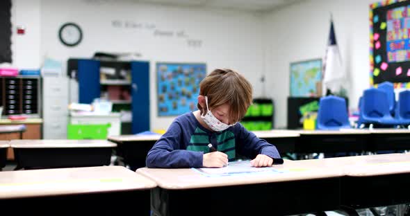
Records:
[[[410,87],[410,1],[370,5],[370,84]]]

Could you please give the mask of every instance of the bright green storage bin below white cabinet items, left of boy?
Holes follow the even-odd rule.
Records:
[[[68,139],[106,139],[110,124],[104,125],[68,125]]]

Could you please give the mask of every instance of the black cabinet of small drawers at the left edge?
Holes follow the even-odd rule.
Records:
[[[40,98],[40,77],[0,78],[0,106],[3,106],[3,115],[26,114],[29,117],[39,118]]]

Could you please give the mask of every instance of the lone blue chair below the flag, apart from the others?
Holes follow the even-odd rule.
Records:
[[[327,96],[320,98],[317,129],[350,128],[345,98]]]

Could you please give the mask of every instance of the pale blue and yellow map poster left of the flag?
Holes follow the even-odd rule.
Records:
[[[290,63],[290,96],[312,97],[322,80],[322,59]]]

